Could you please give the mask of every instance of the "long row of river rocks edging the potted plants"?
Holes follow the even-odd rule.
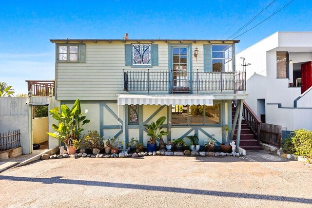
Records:
[[[92,157],[92,158],[124,158],[124,157],[144,157],[144,156],[153,156],[153,155],[165,155],[165,156],[184,156],[184,155],[190,155],[190,156],[242,156],[243,152],[239,153],[225,153],[225,152],[212,152],[212,151],[165,151],[165,150],[159,150],[159,151],[153,151],[153,152],[135,152],[135,153],[128,153],[128,151],[122,151],[120,153],[113,153],[113,154],[87,154],[87,153],[76,153],[76,154],[42,154],[41,160],[46,159],[60,159],[60,158],[69,158],[69,157]]]

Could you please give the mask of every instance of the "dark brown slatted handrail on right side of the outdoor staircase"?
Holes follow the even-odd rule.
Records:
[[[237,107],[238,100],[233,100],[234,105]],[[247,125],[250,127],[252,132],[257,138],[258,145],[260,145],[260,125],[262,121],[254,113],[251,107],[244,101],[243,102],[243,118],[245,119]]]

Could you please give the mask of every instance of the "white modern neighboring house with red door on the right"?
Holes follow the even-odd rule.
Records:
[[[312,130],[312,32],[276,32],[236,54],[236,70],[242,59],[253,111],[266,123],[289,131]]]

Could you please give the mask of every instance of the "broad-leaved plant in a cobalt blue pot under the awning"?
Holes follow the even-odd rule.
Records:
[[[166,117],[162,116],[157,119],[156,123],[152,122],[150,125],[144,125],[148,131],[150,140],[147,142],[147,151],[156,151],[156,140],[161,136],[168,135],[168,132],[162,130],[162,124],[165,122]]]

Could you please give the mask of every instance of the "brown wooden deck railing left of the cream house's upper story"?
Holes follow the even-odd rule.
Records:
[[[54,95],[54,81],[26,80],[26,82],[28,84],[28,91],[32,91],[33,96]]]

